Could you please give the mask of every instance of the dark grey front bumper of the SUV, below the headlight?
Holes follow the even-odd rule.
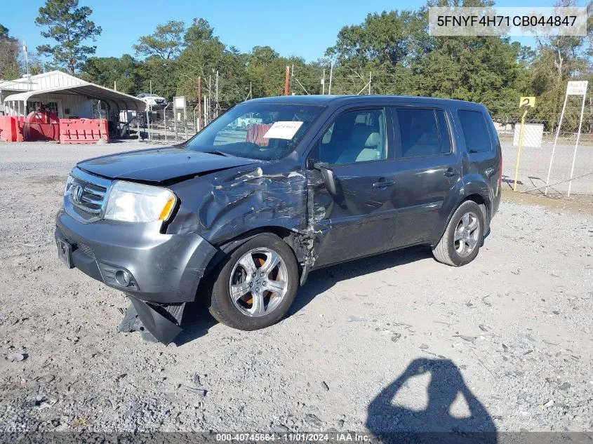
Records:
[[[55,238],[72,244],[74,267],[138,300],[156,304],[191,302],[217,252],[198,234],[161,234],[160,223],[99,220],[85,224],[62,209]],[[117,270],[132,277],[120,285]]]

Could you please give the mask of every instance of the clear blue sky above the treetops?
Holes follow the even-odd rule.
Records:
[[[585,6],[586,0],[579,0]],[[1,7],[0,24],[11,35],[27,42],[29,52],[41,43],[55,44],[41,37],[35,18],[44,0],[6,0]],[[554,0],[524,0],[521,6],[552,6]],[[80,0],[93,9],[91,20],[102,27],[93,43],[99,57],[134,55],[138,37],[151,34],[156,25],[168,20],[205,18],[223,43],[250,51],[253,46],[272,46],[281,55],[297,55],[307,62],[323,57],[335,44],[345,25],[357,25],[367,13],[393,9],[417,9],[423,0]],[[496,6],[517,6],[513,0],[496,1]],[[523,44],[533,39],[517,37]]]

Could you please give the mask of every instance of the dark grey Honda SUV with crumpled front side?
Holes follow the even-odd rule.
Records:
[[[185,305],[201,300],[218,321],[255,330],[285,316],[314,269],[410,245],[471,262],[501,167],[476,103],[249,100],[185,143],[78,163],[55,240],[68,267],[131,300],[121,329],[171,342]]]

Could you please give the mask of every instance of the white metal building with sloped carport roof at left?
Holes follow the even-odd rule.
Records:
[[[26,116],[41,105],[62,119],[93,119],[98,106],[117,116],[124,110],[144,112],[147,106],[138,97],[61,71],[0,82],[0,115]]]

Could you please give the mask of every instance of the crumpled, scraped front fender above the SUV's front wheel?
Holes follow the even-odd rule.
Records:
[[[307,230],[307,177],[295,170],[236,168],[176,184],[174,191],[182,205],[171,234],[193,231],[221,245],[260,227]]]

